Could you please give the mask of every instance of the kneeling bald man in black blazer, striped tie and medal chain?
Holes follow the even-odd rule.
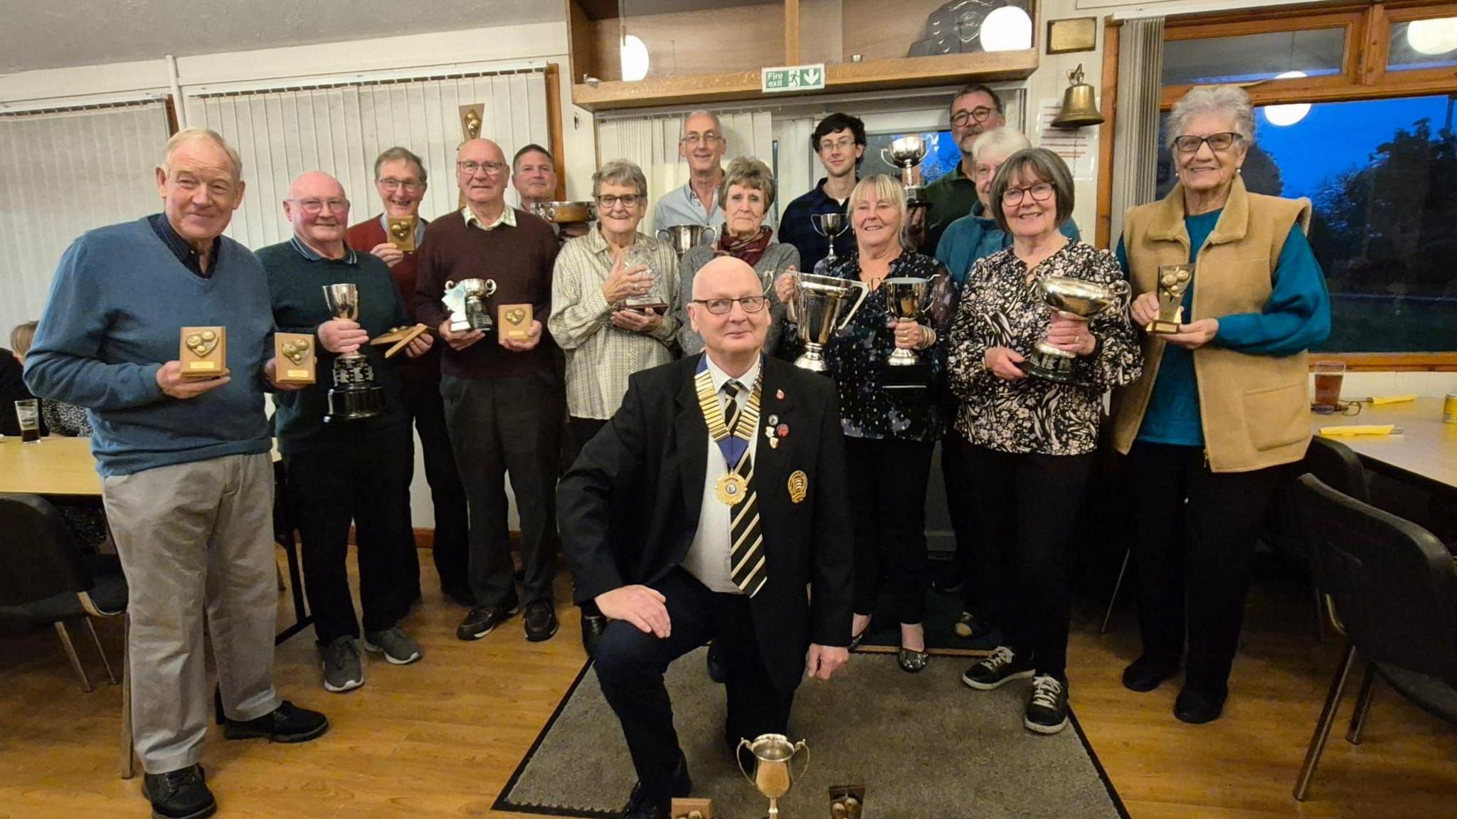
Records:
[[[594,666],[637,768],[628,819],[666,819],[692,790],[663,686],[675,659],[717,641],[733,753],[742,737],[785,733],[800,679],[829,679],[848,657],[835,385],[763,356],[769,310],[743,261],[708,262],[692,296],[704,353],[634,373],[558,490],[577,602],[610,618]]]

